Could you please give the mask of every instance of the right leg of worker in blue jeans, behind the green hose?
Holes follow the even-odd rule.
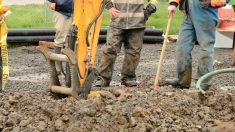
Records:
[[[216,21],[213,19],[211,10],[200,10],[197,13],[201,16],[194,19],[194,25],[197,34],[197,40],[200,45],[199,48],[199,64],[198,64],[198,78],[211,72],[213,70],[213,53],[215,43],[215,26]],[[207,90],[209,80],[202,83],[202,88]]]

